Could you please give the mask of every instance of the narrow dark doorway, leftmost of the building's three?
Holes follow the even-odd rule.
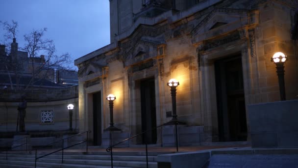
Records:
[[[101,94],[93,93],[93,145],[101,145]]]

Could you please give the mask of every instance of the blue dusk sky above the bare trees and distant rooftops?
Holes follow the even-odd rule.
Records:
[[[0,21],[19,24],[19,46],[33,28],[48,28],[57,55],[69,53],[73,61],[110,43],[109,19],[109,0],[0,0]],[[1,44],[3,31],[1,25]]]

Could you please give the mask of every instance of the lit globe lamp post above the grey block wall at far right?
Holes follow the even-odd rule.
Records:
[[[287,61],[288,58],[285,54],[281,52],[277,52],[273,55],[271,58],[271,61],[275,63],[276,65],[276,72],[278,76],[278,85],[279,85],[279,94],[280,94],[280,100],[284,101],[286,100],[286,92],[285,92],[285,71],[283,64],[285,61]]]

